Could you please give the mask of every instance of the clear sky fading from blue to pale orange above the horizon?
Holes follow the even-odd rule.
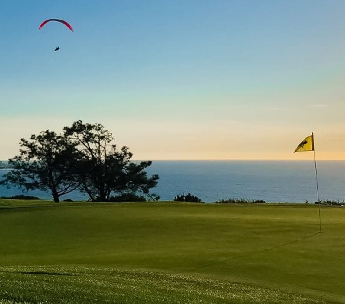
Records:
[[[317,159],[345,160],[344,16],[344,0],[2,0],[0,160],[78,119],[138,160],[313,160],[293,153],[312,132]]]

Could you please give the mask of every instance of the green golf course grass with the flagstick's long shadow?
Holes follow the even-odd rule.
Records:
[[[321,215],[0,199],[0,303],[345,303],[345,208]]]

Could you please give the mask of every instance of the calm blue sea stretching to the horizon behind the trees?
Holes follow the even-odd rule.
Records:
[[[6,172],[0,170],[0,180]],[[151,192],[161,200],[188,192],[204,202],[227,198],[291,203],[317,200],[314,161],[153,161],[147,172],[159,175],[158,186]],[[345,161],[318,161],[317,175],[320,199],[345,199]],[[0,196],[21,193],[15,187],[0,186]],[[30,191],[28,195],[52,199],[49,192]],[[88,199],[79,191],[61,200],[66,198]]]

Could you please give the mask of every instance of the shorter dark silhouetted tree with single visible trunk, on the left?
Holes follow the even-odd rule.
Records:
[[[20,154],[9,160],[13,169],[1,184],[14,185],[26,191],[50,189],[54,202],[78,188],[73,172],[78,151],[65,137],[46,130],[20,140]]]

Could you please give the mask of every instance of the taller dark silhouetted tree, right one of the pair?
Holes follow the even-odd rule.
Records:
[[[113,194],[126,193],[142,193],[151,199],[159,199],[149,193],[149,189],[157,185],[158,175],[149,178],[144,171],[152,162],[131,162],[132,153],[128,147],[123,146],[118,151],[112,143],[112,134],[100,123],[78,120],[63,130],[65,138],[79,151],[75,174],[79,189],[87,193],[90,200],[107,202]]]

